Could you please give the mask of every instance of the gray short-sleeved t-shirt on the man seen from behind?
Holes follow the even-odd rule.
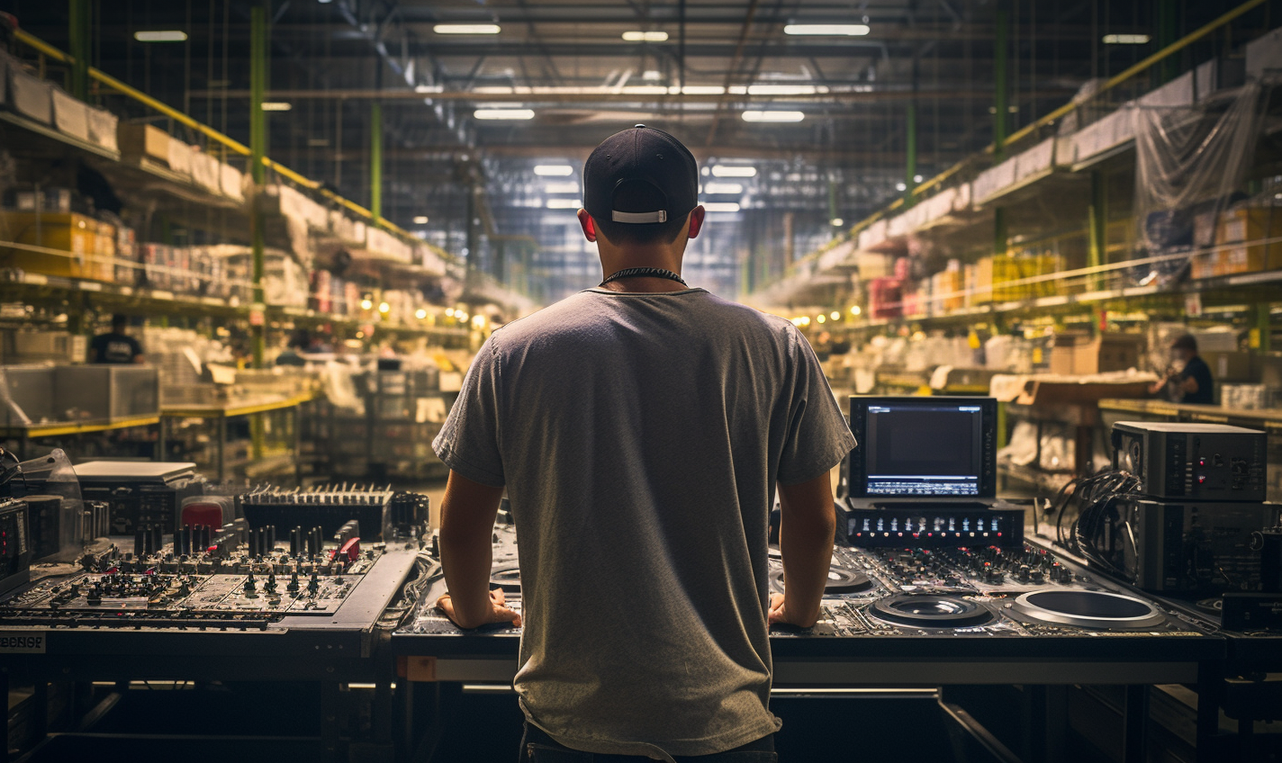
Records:
[[[703,289],[590,289],[495,332],[433,448],[508,488],[527,718],[633,755],[776,731],[774,485],[854,443],[797,329]]]

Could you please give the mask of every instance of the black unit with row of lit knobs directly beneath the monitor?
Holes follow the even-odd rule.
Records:
[[[949,503],[847,503],[846,540],[863,548],[1022,545],[1024,510]]]

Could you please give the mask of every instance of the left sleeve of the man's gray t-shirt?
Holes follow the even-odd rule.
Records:
[[[505,484],[499,452],[500,384],[499,347],[490,337],[472,361],[441,434],[432,440],[432,449],[446,466],[494,488]]]

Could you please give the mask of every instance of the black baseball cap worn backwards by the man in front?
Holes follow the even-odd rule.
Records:
[[[618,210],[614,193],[624,183],[642,182],[663,197],[653,210]],[[637,124],[601,141],[583,163],[583,209],[597,220],[665,223],[685,218],[699,204],[699,163],[681,141]]]

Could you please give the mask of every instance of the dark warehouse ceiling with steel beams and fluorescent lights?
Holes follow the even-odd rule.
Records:
[[[94,63],[247,141],[253,5],[97,1]],[[268,101],[288,109],[268,115],[269,154],[368,204],[370,111],[381,104],[385,216],[500,278],[519,271],[519,285],[540,301],[600,277],[573,209],[582,160],[612,132],[645,123],[694,150],[708,173],[703,200],[722,211],[709,214],[687,273],[733,294],[901,195],[914,104],[912,174],[928,178],[992,141],[999,8],[1010,131],[1223,12],[1218,3],[1169,0],[267,5]],[[0,8],[67,47],[64,0]],[[867,33],[790,33],[805,24],[860,24]],[[467,33],[454,33],[460,26]],[[156,29],[187,38],[135,38]],[[1105,44],[1117,35],[1147,42]],[[118,96],[101,97],[145,116]],[[759,120],[781,113],[797,120]],[[570,169],[536,174],[546,166]],[[741,177],[714,177],[718,168]]]

